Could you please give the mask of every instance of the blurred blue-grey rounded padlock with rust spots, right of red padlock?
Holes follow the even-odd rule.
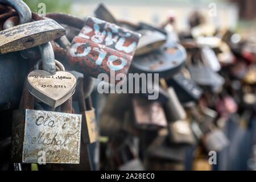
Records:
[[[132,67],[137,72],[169,77],[180,71],[186,57],[187,53],[180,44],[165,44],[147,55],[134,57]]]

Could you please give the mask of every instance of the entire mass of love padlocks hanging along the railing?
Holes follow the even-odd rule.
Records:
[[[178,34],[174,17],[154,27],[115,19],[104,5],[94,13],[40,16],[0,0],[2,170],[210,170],[209,152],[232,146],[230,120],[254,137],[249,42],[205,28],[198,14]],[[110,89],[125,83],[111,82],[118,74],[154,81],[98,93],[101,73]],[[145,87],[158,97],[136,92]]]

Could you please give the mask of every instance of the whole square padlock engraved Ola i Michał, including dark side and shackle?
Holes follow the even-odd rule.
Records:
[[[26,83],[22,108],[13,113],[13,162],[79,163],[81,115],[34,110],[34,97]],[[71,103],[66,105],[70,107]]]

